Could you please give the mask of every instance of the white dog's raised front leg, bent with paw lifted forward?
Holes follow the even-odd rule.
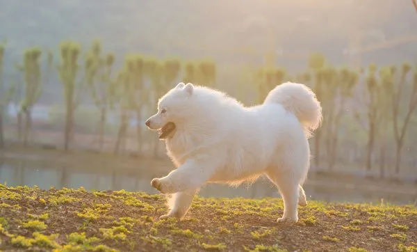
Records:
[[[162,194],[174,194],[179,191],[199,189],[211,177],[213,165],[202,160],[188,159],[163,178],[154,178],[151,182]]]

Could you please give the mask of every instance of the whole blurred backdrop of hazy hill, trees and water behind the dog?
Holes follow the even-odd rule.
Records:
[[[0,0],[0,182],[146,191],[173,165],[145,120],[179,81],[245,105],[322,102],[313,200],[417,203],[417,9],[398,0]],[[215,197],[278,197],[266,179]]]

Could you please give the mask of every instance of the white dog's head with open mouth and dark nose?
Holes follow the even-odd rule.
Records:
[[[192,106],[193,90],[193,84],[181,82],[158,101],[158,112],[151,116],[145,124],[149,129],[159,129],[161,131],[160,139],[172,137],[176,125],[185,120]]]

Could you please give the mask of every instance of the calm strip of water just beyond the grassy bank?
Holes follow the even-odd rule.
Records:
[[[148,194],[158,194],[150,185],[152,178],[165,175],[163,171],[122,171],[100,170],[99,168],[85,170],[84,168],[69,166],[54,166],[54,164],[33,165],[25,161],[14,164],[0,163],[0,182],[6,182],[8,186],[37,185],[41,189],[55,187],[79,188],[87,190],[121,190],[145,191]],[[359,191],[349,187],[330,186],[325,183],[307,181],[304,184],[306,196],[310,200],[323,200],[327,202],[352,202],[352,203],[379,203],[381,198],[384,202],[395,204],[414,203],[417,196],[412,194],[386,194],[379,191]],[[263,198],[279,197],[277,189],[268,180],[261,178],[251,186],[228,187],[221,184],[208,184],[200,192],[204,197],[243,197]]]

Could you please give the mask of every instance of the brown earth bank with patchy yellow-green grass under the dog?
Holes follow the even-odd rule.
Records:
[[[199,198],[183,221],[161,195],[0,184],[3,251],[417,251],[414,206],[300,207],[277,223],[282,200]]]

